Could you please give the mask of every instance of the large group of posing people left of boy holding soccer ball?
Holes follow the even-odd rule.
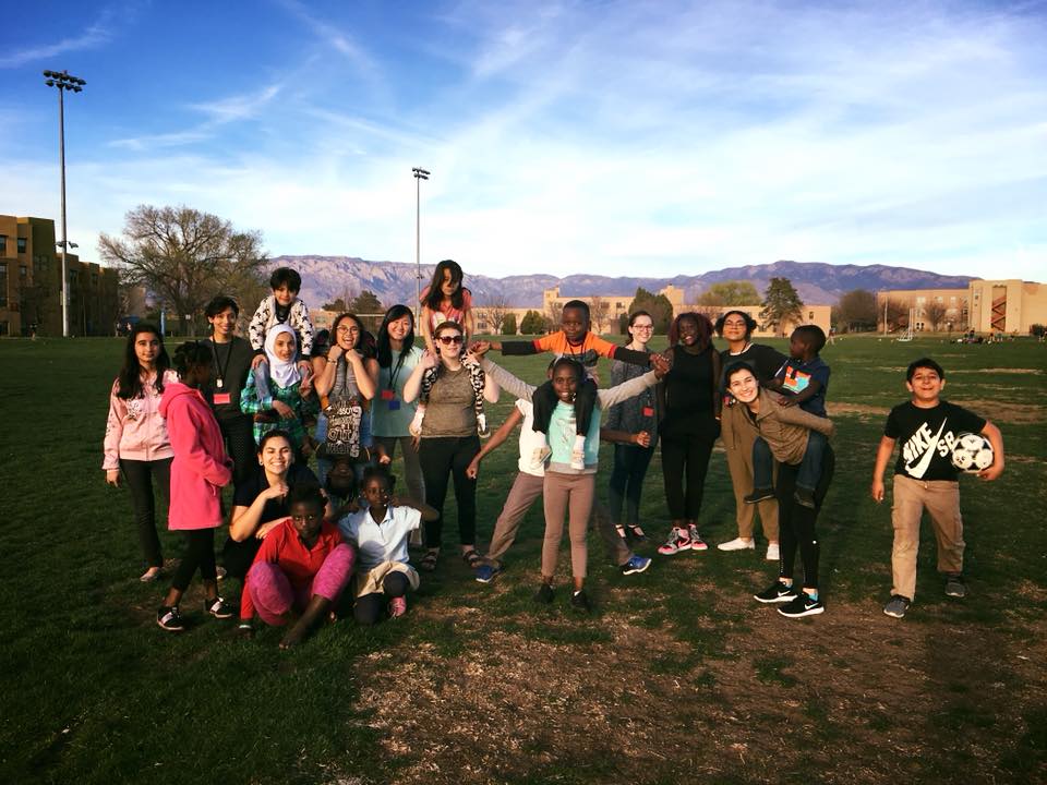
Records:
[[[250,340],[236,335],[239,305],[224,295],[206,307],[210,337],[183,343],[173,361],[157,328],[140,323],[131,330],[110,395],[103,468],[110,484],[122,478],[131,491],[146,559],[141,580],[156,580],[168,564],[154,490],[169,499],[168,527],[184,533],[184,553],[157,611],[161,628],[184,629],[180,601],[197,569],[205,613],[234,616],[218,580],[239,580],[241,629],[250,633],[255,617],[284,626],[281,645],[297,643],[328,617],[374,624],[400,616],[419,585],[418,570],[437,567],[452,485],[460,556],[478,581],[490,583],[505,569],[520,521],[542,496],[546,531],[535,600],[553,601],[566,520],[570,602],[589,611],[586,532],[594,507],[622,573],[650,566],[633,546],[648,539],[640,499],[659,447],[672,523],[658,553],[708,548],[699,516],[717,438],[726,452],[737,520],[737,536],[718,547],[755,550],[759,517],[766,556],[779,563],[779,576],[755,597],[781,603],[786,616],[823,612],[815,522],[834,460],[831,447],[811,437],[833,431],[825,418],[821,330],[799,328],[786,357],[753,342],[756,324],[743,311],[727,311],[715,326],[685,313],[672,324],[669,349],[655,353],[648,347],[650,314],[633,313],[628,340],[617,346],[594,336],[588,306],[571,301],[550,336],[477,341],[462,277],[452,261],[437,265],[421,303],[424,350],[416,346],[413,314],[401,304],[386,312],[376,336],[350,313],[339,315],[329,333],[315,331],[298,298],[301,279],[289,268],[273,274],[273,294],[251,319]],[[713,347],[713,331],[726,342],[722,351]],[[492,350],[555,358],[546,379],[532,385],[495,364]],[[599,357],[612,360],[604,389],[595,374]],[[517,400],[491,436],[484,407],[501,389]],[[806,411],[811,407],[815,413]],[[517,425],[519,474],[482,554],[480,464]],[[601,439],[614,444],[606,508],[595,492]],[[395,493],[388,471],[397,451],[406,495]],[[770,456],[773,481],[761,479],[770,476]],[[309,468],[314,458],[315,472]],[[1001,467],[1002,445],[999,460]],[[221,490],[230,482],[227,512]],[[218,567],[214,534],[227,520]],[[409,544],[424,546],[417,569]],[[803,592],[793,589],[797,551]]]

